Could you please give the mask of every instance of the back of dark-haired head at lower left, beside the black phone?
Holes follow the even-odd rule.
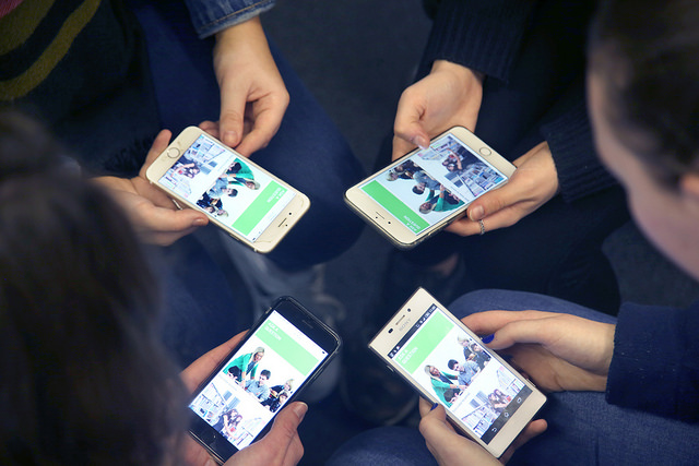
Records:
[[[0,463],[163,464],[185,398],[156,279],[127,216],[61,153],[0,115]]]

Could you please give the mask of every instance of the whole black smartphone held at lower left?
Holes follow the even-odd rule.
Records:
[[[280,298],[194,392],[190,434],[223,464],[266,433],[341,345],[298,301]]]

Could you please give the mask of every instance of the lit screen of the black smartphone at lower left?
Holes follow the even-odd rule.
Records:
[[[328,357],[273,310],[189,408],[233,446],[244,449]]]

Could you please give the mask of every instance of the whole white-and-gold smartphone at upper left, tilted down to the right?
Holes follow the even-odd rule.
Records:
[[[170,143],[146,178],[258,252],[274,249],[310,206],[304,193],[196,127]]]

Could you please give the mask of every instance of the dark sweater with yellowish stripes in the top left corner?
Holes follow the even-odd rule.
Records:
[[[0,106],[43,120],[88,171],[130,175],[158,119],[138,21],[117,0],[9,0]]]

